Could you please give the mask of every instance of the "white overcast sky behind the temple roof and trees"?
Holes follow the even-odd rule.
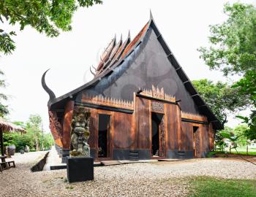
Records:
[[[89,66],[97,65],[110,39],[115,34],[126,39],[129,30],[133,38],[149,20],[150,9],[190,80],[227,81],[222,73],[209,71],[197,52],[198,47],[208,46],[208,26],[225,20],[222,10],[226,2],[103,0],[102,5],[79,9],[72,20],[72,31],[57,38],[48,38],[29,27],[19,32],[17,27],[5,26],[15,28],[18,34],[15,52],[0,57],[0,68],[8,83],[1,91],[11,96],[7,102],[10,120],[26,121],[29,115],[39,114],[45,131],[49,131],[48,94],[41,86],[43,72],[50,68],[46,82],[56,96],[78,88],[92,79]],[[255,4],[255,0],[241,2]],[[230,118],[227,125],[238,123]]]

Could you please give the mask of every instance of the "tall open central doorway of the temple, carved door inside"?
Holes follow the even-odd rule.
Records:
[[[164,115],[151,112],[151,155],[153,157],[165,156],[165,124]]]

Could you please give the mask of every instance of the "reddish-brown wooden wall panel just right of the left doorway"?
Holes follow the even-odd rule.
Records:
[[[114,113],[113,147],[131,148],[135,143],[135,133],[132,128],[132,115],[120,112]]]

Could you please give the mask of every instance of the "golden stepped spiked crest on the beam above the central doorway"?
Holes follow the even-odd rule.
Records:
[[[143,92],[141,92],[140,94],[144,96],[166,100],[166,101],[173,101],[173,102],[176,101],[175,96],[166,94],[164,91],[164,88],[161,88],[159,90],[159,88],[158,87],[155,88],[154,85],[152,85],[152,90],[143,89]]]

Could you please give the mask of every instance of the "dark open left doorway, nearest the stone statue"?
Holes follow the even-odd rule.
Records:
[[[110,115],[99,114],[98,158],[110,158]]]

